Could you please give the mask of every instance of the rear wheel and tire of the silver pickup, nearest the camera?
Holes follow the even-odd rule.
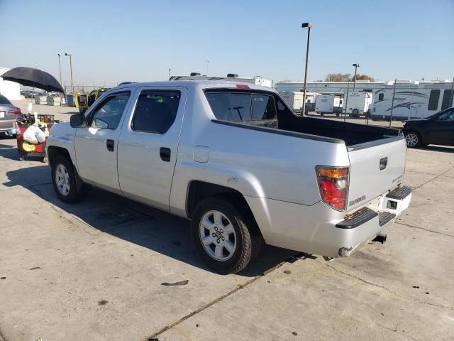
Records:
[[[245,269],[260,251],[262,237],[253,219],[223,198],[202,200],[194,210],[191,227],[202,259],[220,274]]]

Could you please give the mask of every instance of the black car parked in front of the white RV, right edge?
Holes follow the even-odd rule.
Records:
[[[428,144],[454,146],[454,107],[426,119],[404,121],[404,135],[409,148]]]

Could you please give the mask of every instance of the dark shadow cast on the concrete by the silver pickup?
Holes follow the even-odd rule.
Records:
[[[210,271],[196,253],[188,220],[99,189],[92,190],[84,202],[66,204],[54,193],[47,165],[7,171],[6,176],[6,187],[22,186],[101,232]],[[239,275],[258,276],[295,253],[264,247],[258,259]]]

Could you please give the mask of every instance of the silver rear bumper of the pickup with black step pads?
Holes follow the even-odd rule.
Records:
[[[348,217],[323,202],[304,206],[255,197],[246,200],[267,244],[334,258],[350,256],[406,210],[411,190],[399,198],[390,194],[380,196],[377,209],[362,207]]]

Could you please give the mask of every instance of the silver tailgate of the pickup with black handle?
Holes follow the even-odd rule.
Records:
[[[406,144],[402,136],[348,148],[350,185],[348,207],[353,210],[402,183]]]

